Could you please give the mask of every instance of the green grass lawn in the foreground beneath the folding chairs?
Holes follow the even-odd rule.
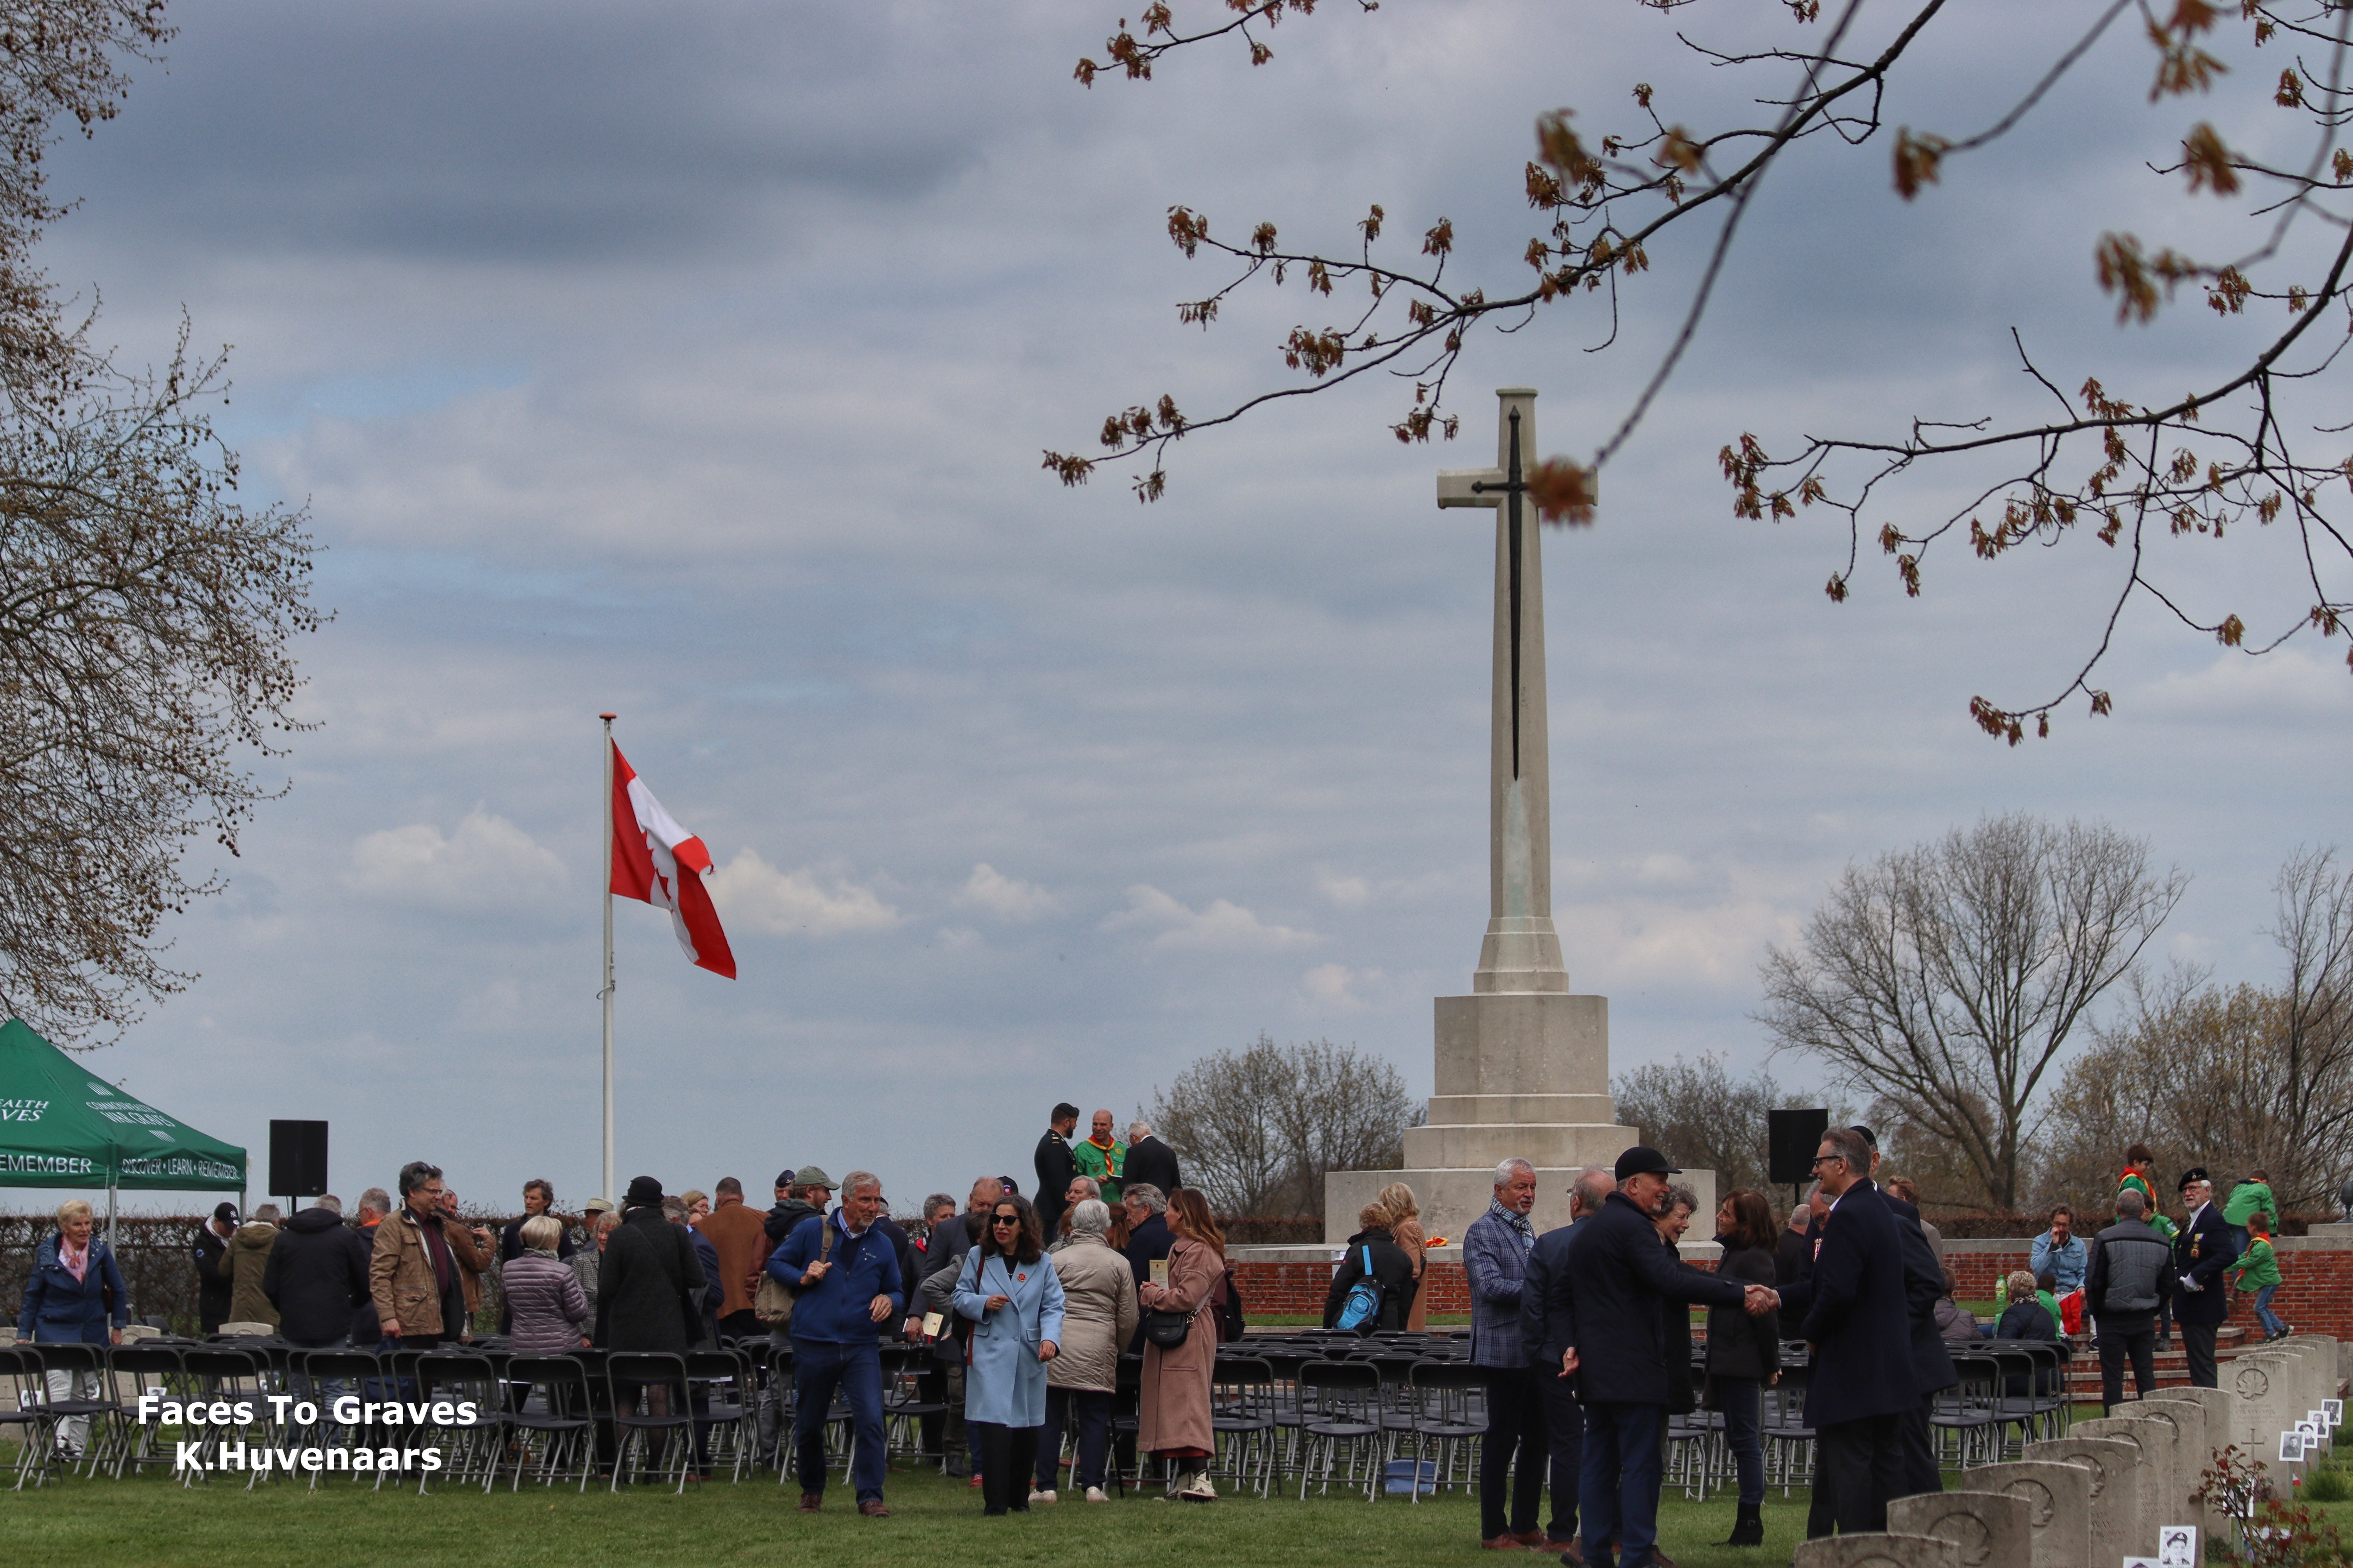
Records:
[[[835,1472],[838,1474],[838,1472]],[[26,1563],[108,1568],[369,1568],[374,1563],[993,1563],[1151,1561],[1169,1563],[1433,1563],[1494,1561],[1478,1544],[1478,1502],[1402,1497],[1228,1497],[1179,1505],[1158,1497],[1089,1507],[1061,1502],[1028,1516],[981,1519],[981,1495],[939,1474],[892,1469],[889,1519],[859,1519],[845,1488],[826,1509],[795,1512],[795,1488],[774,1474],[701,1493],[438,1490],[428,1497],[369,1493],[346,1481],[306,1490],[273,1481],[254,1493],[228,1479],[181,1488],[139,1481],[68,1479],[38,1493],[0,1493],[0,1537]],[[1668,1497],[1661,1547],[1682,1568],[1786,1563],[1805,1530],[1805,1497],[1765,1505],[1762,1549],[1715,1549],[1732,1528],[1732,1502]],[[1518,1559],[1544,1561],[1553,1559]]]

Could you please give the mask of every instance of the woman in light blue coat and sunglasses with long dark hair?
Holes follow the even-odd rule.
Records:
[[[955,1276],[955,1312],[972,1319],[965,1425],[981,1450],[988,1514],[1028,1514],[1028,1479],[1045,1425],[1045,1363],[1061,1340],[1061,1279],[1028,1199],[1000,1197],[981,1244]]]

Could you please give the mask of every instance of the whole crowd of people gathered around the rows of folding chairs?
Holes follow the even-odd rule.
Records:
[[[984,1175],[962,1201],[929,1194],[908,1227],[892,1220],[878,1175],[835,1182],[814,1164],[781,1171],[765,1211],[732,1175],[711,1194],[668,1194],[640,1175],[619,1204],[591,1199],[576,1229],[558,1218],[546,1180],[525,1182],[525,1213],[501,1232],[468,1225],[426,1161],[402,1166],[398,1197],[362,1192],[348,1218],[334,1197],[294,1215],[261,1204],[240,1218],[221,1204],[193,1246],[200,1328],[275,1333],[301,1349],[433,1349],[473,1338],[494,1276],[499,1333],[520,1354],[765,1340],[791,1352],[793,1415],[784,1432],[772,1385],[758,1413],[762,1458],[791,1462],[800,1507],[821,1509],[826,1422],[840,1399],[854,1427],[849,1486],[868,1516],[889,1512],[887,1338],[925,1347],[925,1448],[967,1476],[993,1516],[1059,1500],[1066,1432],[1071,1490],[1106,1500],[1118,1366],[1141,1352],[1132,1443],[1165,1460],[1172,1495],[1209,1502],[1217,1345],[1240,1333],[1224,1234],[1151,1126],[1129,1124],[1120,1140],[1101,1110],[1089,1138],[1073,1143],[1075,1131],[1078,1107],[1056,1105],[1033,1194],[1012,1175]],[[1807,1533],[1828,1535],[1880,1530],[1892,1497],[1939,1486],[1929,1410],[1958,1382],[1951,1342],[2057,1340],[2089,1326],[2113,1406],[2127,1363],[2141,1394],[2155,1387],[2153,1352],[2172,1328],[2191,1380],[2214,1387],[2233,1288],[2254,1295],[2266,1335],[2287,1333],[2271,1312],[2278,1208],[2261,1173],[2224,1206],[2207,1171],[2181,1173],[2177,1225],[2158,1211],[2148,1150],[2134,1145],[2113,1220],[2082,1237],[2071,1208],[2052,1211],[1986,1326],[1955,1302],[1918,1190],[1906,1178],[1880,1187],[1878,1164],[1871,1128],[1831,1128],[1814,1187],[1786,1222],[1760,1192],[1725,1194],[1722,1258],[1699,1269],[1678,1253],[1699,1199],[1657,1150],[1579,1173],[1569,1222],[1544,1234],[1529,1222],[1534,1166],[1504,1161],[1464,1234],[1471,1361],[1487,1373],[1482,1544],[1673,1568],[1657,1549],[1666,1425],[1699,1403],[1722,1413],[1734,1458],[1725,1544],[1760,1544],[1762,1401],[1791,1342],[1807,1349],[1805,1420],[1819,1443]],[[129,1293],[89,1204],[68,1201],[56,1220],[19,1335],[120,1342]],[[1414,1192],[1384,1187],[1334,1265],[1325,1326],[1417,1328],[1433,1244]],[[1708,1309],[1697,1359],[1692,1307]],[[52,1373],[52,1399],[89,1396],[85,1378]],[[56,1441],[80,1458],[87,1427],[64,1420]],[[1122,1453],[1122,1467],[1132,1458]]]

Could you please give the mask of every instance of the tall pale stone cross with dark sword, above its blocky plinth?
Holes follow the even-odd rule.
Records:
[[[1438,473],[1438,505],[1494,508],[1487,940],[1473,992],[1567,992],[1553,929],[1553,762],[1544,701],[1544,548],[1527,505],[1537,390],[1497,390],[1497,465]]]

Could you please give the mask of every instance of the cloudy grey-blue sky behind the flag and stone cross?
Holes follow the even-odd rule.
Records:
[[[228,346],[245,496],[308,508],[334,621],[299,649],[318,729],[273,764],[287,797],[172,926],[200,980],[94,1070],[254,1150],[256,1197],[273,1117],[332,1124],[346,1199],[419,1157],[466,1201],[588,1197],[614,710],[720,865],[739,961],[689,969],[659,910],[616,907],[621,1180],[1026,1187],[1052,1103],[1125,1124],[1259,1032],[1428,1093],[1431,997],[1468,990],[1487,917],[1492,583],[1487,515],[1438,512],[1433,470],[1487,461],[1518,383],[1546,451],[1591,454],[1701,235],[1652,244],[1605,353],[1598,296],[1478,334],[1454,447],[1398,444],[1384,381],[1186,440],[1148,508],[1134,465],[1064,489],[1040,451],[1160,393],[1198,418],[1289,386],[1282,334],[1337,310],[1294,280],[1181,327],[1217,275],[1172,205],[1344,249],[1381,202],[1400,261],[1447,216],[1449,275],[1518,287],[1537,113],[1628,129],[1645,80],[1725,125],[1788,71],[1727,87],[1673,31],[1769,42],[1779,9],[1325,7],[1264,68],[1212,47],[1080,89],[1118,7],[174,5],[122,115],[54,155],[80,207],[45,266],[127,362],[181,317]],[[2092,9],[1972,5],[1889,122],[1991,122]],[[2240,87],[2278,66],[2217,52]],[[1760,1065],[1765,947],[1852,860],[1984,813],[2148,839],[2191,875],[2153,959],[2273,976],[2273,875],[2348,799],[2341,651],[2249,661],[2141,602],[2115,715],[2078,701],[2009,750],[1969,696],[2064,686],[2111,552],[1946,550],[1920,599],[1866,557],[1833,607],[1835,522],[1734,520],[1713,456],[2017,416],[2042,393],[2012,329],[2059,386],[2141,402],[2226,364],[2249,329],[2195,303],[2120,329],[2092,244],[2221,247],[2233,209],[2146,165],[2193,115],[2285,125],[2268,94],[2146,106],[2146,75],[2118,33],[1913,205],[1885,136],[1802,146],[1598,527],[1546,536],[1555,914],[1617,1072]],[[2285,623],[2287,543],[2160,567],[2200,614]]]

